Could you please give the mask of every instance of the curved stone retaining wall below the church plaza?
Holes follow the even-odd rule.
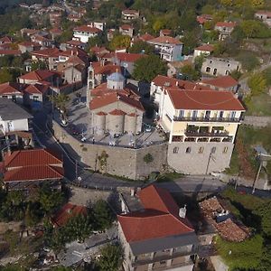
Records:
[[[152,172],[162,172],[167,164],[167,143],[146,146],[140,149],[82,144],[55,121],[52,122],[52,129],[55,137],[70,155],[80,159],[82,163],[92,170],[104,170],[104,172],[112,175],[123,176],[132,180],[142,180]],[[107,154],[106,163],[103,164],[98,159],[102,153]],[[146,154],[152,154],[154,161],[146,164],[144,161]]]

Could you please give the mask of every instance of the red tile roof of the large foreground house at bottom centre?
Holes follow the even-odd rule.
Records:
[[[193,232],[187,219],[179,217],[179,208],[169,192],[150,185],[139,192],[145,210],[119,215],[127,242],[165,238]]]

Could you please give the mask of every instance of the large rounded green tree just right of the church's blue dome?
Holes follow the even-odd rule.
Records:
[[[166,74],[166,63],[157,55],[150,55],[135,61],[133,77],[137,80],[151,82],[158,74]]]

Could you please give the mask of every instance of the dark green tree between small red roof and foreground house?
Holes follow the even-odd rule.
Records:
[[[112,225],[114,217],[107,201],[99,200],[93,207],[95,229],[107,229]]]

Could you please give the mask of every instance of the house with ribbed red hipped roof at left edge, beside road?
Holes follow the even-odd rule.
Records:
[[[48,149],[20,150],[6,153],[3,162],[3,182],[8,190],[28,192],[42,182],[61,188],[63,162]]]

